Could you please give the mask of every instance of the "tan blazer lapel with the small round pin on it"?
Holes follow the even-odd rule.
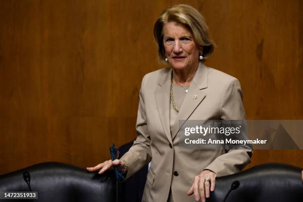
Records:
[[[180,108],[179,114],[176,121],[172,127],[172,139],[174,139],[179,132],[180,128],[184,125],[185,121],[198,107],[200,102],[205,98],[205,94],[202,89],[208,86],[208,70],[207,67],[200,63],[197,72],[193,78],[193,81],[189,87],[188,94],[186,94],[182,106]],[[179,120],[184,120],[183,123],[179,125]]]

